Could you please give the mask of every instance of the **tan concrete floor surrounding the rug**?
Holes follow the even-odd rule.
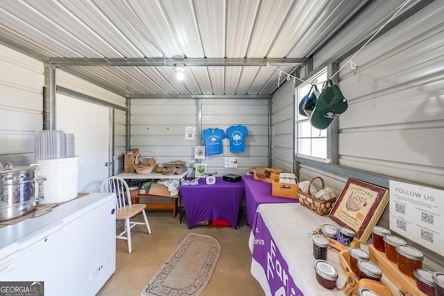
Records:
[[[140,291],[155,272],[173,254],[190,232],[206,234],[221,244],[216,268],[201,293],[202,296],[264,295],[259,283],[250,274],[251,253],[245,213],[241,214],[239,229],[232,227],[196,226],[188,229],[185,218],[172,218],[171,211],[148,211],[152,234],[143,225],[132,229],[133,253],[128,254],[127,242],[117,239],[116,271],[97,295],[140,295]],[[138,216],[137,219],[142,219]]]

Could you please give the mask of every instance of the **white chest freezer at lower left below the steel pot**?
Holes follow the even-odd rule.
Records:
[[[91,193],[0,229],[0,281],[44,295],[95,295],[116,270],[114,193]]]

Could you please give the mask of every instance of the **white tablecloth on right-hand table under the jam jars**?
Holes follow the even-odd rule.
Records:
[[[339,290],[327,290],[323,288],[318,281],[316,281],[316,272],[314,271],[313,245],[311,242],[311,234],[316,228],[320,227],[322,223],[332,223],[332,220],[327,216],[318,216],[313,211],[303,207],[300,204],[260,204],[257,208],[257,213],[262,216],[264,224],[271,234],[276,249],[282,255],[282,259],[288,265],[289,277],[293,279],[297,288],[302,291],[303,295],[344,295]],[[334,224],[334,223],[332,223]],[[253,254],[255,248],[260,250],[261,241],[255,241],[254,232],[252,229],[250,234],[249,246]],[[362,245],[366,249],[366,245]],[[266,252],[268,250],[264,250]],[[339,279],[337,286],[342,287],[345,282],[345,274],[339,262],[339,254],[328,250],[327,261],[330,262],[339,272]],[[271,263],[271,265],[273,265]],[[251,273],[259,281],[266,295],[275,295],[275,287],[270,290],[268,279],[266,275],[266,268],[255,260],[253,257],[251,265]],[[383,276],[382,281],[391,288],[393,295],[399,295],[399,291],[391,284],[388,279]],[[285,286],[285,284],[283,284]],[[285,290],[285,289],[282,289]],[[281,290],[281,291],[282,291]],[[398,294],[395,294],[398,293]],[[294,295],[291,290],[287,289],[287,293],[278,295]],[[296,295],[299,295],[296,293]]]

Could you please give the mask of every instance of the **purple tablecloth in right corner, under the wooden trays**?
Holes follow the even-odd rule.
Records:
[[[250,226],[253,226],[259,204],[299,202],[299,200],[293,200],[292,198],[280,198],[271,195],[271,183],[255,180],[253,175],[244,175],[242,179],[245,184],[247,223]]]

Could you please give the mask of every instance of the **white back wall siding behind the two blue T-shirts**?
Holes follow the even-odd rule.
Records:
[[[268,100],[264,99],[132,99],[130,102],[131,148],[139,148],[142,156],[153,152],[160,163],[183,160],[191,168],[194,164],[194,146],[200,145],[198,100],[201,100],[202,130],[230,125],[245,125],[244,153],[230,153],[228,139],[223,140],[221,155],[206,157],[208,171],[245,174],[250,166],[268,164]],[[196,139],[185,140],[185,127],[196,127]],[[239,168],[224,168],[224,157],[238,157]],[[189,169],[189,173],[193,173]]]

